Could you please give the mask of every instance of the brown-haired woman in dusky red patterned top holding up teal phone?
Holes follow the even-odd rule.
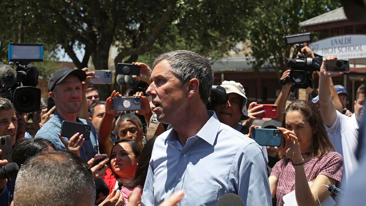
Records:
[[[277,206],[284,205],[283,196],[295,190],[298,205],[319,205],[317,189],[320,185],[337,184],[343,173],[343,159],[325,130],[320,111],[307,101],[292,102],[283,113],[281,161],[269,176],[272,198]],[[309,186],[309,182],[313,184]],[[330,192],[320,187],[318,196],[324,201]]]

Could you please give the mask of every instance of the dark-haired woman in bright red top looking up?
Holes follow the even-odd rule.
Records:
[[[118,182],[128,183],[132,181],[137,162],[141,155],[142,148],[137,141],[132,139],[120,139],[116,141],[111,151],[111,168],[107,169],[107,174],[104,177],[105,183],[109,187],[109,193],[118,188]],[[122,187],[121,192],[128,203],[128,195],[134,188]]]

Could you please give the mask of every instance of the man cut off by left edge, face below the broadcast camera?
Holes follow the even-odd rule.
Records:
[[[0,136],[11,136],[11,146],[14,146],[18,119],[16,118],[13,104],[10,100],[0,97]],[[1,154],[1,152],[0,152]],[[0,168],[8,163],[8,159],[0,160]],[[14,192],[14,179],[0,179],[0,205],[9,205],[11,202],[10,194]],[[12,186],[13,185],[13,186]],[[11,199],[9,199],[11,198]]]

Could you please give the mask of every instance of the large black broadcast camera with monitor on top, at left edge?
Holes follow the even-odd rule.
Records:
[[[43,61],[43,44],[9,43],[8,60],[9,65],[0,63],[0,88],[10,93],[16,111],[40,110],[41,89],[36,87],[38,69],[31,62]]]

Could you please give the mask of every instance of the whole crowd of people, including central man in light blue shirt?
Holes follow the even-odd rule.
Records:
[[[302,52],[314,56],[308,47]],[[53,73],[48,91],[55,106],[47,109],[42,100],[42,110],[32,114],[16,111],[1,89],[0,136],[10,135],[12,154],[0,167],[15,162],[20,169],[0,178],[0,205],[217,205],[227,193],[244,205],[332,202],[321,186],[347,191],[358,169],[366,85],[358,88],[352,113],[347,89],[331,78],[343,73],[325,69],[331,59],[324,58],[319,88],[308,100],[288,102],[292,83],[282,85],[278,115],[262,125],[282,133],[278,147],[250,138],[266,111],[248,102],[242,84],[223,81],[227,99],[212,101],[213,69],[191,51],[161,54],[152,69],[133,63],[141,74],[132,77],[149,84],[146,92],[131,89],[141,99],[138,111],[113,110],[113,98],[130,93],[100,99],[87,68]],[[61,136],[63,121],[89,125],[89,137],[82,131]],[[105,154],[101,161],[99,154]],[[109,195],[99,194],[96,179]]]

